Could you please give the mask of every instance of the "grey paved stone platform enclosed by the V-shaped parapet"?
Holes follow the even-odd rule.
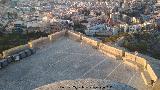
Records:
[[[32,90],[61,80],[102,79],[147,90],[140,71],[68,38],[0,70],[0,90]]]

